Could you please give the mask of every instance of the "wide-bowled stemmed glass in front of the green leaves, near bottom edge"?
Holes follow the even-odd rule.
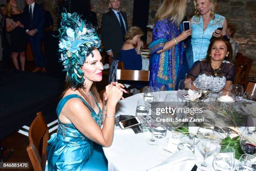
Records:
[[[211,171],[212,167],[210,164],[206,163],[206,158],[208,154],[214,150],[220,143],[222,142],[222,138],[220,135],[214,132],[204,132],[198,133],[197,137],[200,139],[202,144],[202,148],[205,151],[205,159],[204,162],[197,162],[197,167],[203,171]]]

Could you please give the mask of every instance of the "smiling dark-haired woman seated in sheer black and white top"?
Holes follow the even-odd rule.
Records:
[[[223,38],[210,42],[205,60],[196,61],[187,74],[193,82],[192,89],[202,80],[209,82],[213,92],[228,91],[235,79],[235,68],[232,60],[232,46]],[[212,84],[210,84],[212,82]]]

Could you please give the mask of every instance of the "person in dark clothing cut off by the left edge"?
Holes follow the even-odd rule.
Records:
[[[5,27],[5,17],[7,14],[6,6],[0,5],[0,12],[3,18],[1,18],[1,40],[3,47],[3,58],[2,58],[2,68],[8,69],[8,64],[10,61],[11,48],[10,48],[10,34],[6,31]]]

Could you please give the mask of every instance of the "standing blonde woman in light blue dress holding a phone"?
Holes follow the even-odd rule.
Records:
[[[190,19],[192,52],[190,55],[186,54],[190,68],[195,61],[206,58],[212,36],[225,36],[227,30],[225,17],[216,14],[218,10],[217,0],[194,0],[194,4],[196,12]],[[223,30],[220,31],[217,28],[223,28]]]

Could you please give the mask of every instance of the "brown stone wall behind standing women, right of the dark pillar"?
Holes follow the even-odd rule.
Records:
[[[148,24],[154,25],[154,15],[163,0],[150,0]],[[234,40],[238,41],[239,52],[254,59],[251,75],[256,79],[256,0],[219,0],[218,14],[224,15],[228,23],[236,26]],[[195,12],[193,0],[188,4],[187,18]]]

